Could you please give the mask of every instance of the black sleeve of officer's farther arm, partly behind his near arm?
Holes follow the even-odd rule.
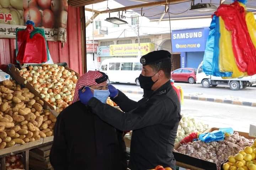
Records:
[[[118,90],[118,96],[111,98],[124,112],[129,112],[138,106],[137,102],[130,100],[122,91]]]

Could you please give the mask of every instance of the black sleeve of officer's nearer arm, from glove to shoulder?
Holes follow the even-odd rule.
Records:
[[[170,104],[172,104],[171,101]],[[154,99],[126,113],[100,102],[95,97],[91,98],[87,105],[103,121],[122,131],[140,129],[160,123],[165,119],[169,119],[166,116],[171,116],[173,112],[166,114],[164,103]],[[175,109],[175,107],[172,108]]]

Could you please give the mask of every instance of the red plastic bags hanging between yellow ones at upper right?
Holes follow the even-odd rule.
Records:
[[[236,64],[241,72],[256,74],[256,49],[251,41],[245,21],[245,9],[236,1],[220,5],[215,15],[222,17],[225,28],[231,31],[232,47]]]

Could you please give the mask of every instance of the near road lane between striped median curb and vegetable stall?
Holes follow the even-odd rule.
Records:
[[[142,95],[126,94],[138,101]],[[256,125],[256,108],[197,100],[184,100],[181,113],[196,118],[209,127],[232,127],[236,131],[249,132],[250,124]],[[255,115],[254,115],[255,114]]]

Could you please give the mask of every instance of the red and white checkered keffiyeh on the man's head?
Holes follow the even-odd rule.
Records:
[[[76,83],[76,88],[75,88],[75,95],[73,98],[72,103],[75,103],[79,101],[79,95],[78,92],[79,90],[84,87],[84,86],[92,86],[92,85],[101,85],[103,83],[97,84],[96,79],[101,78],[102,74],[99,71],[89,71],[85,74],[83,74],[77,81]]]

